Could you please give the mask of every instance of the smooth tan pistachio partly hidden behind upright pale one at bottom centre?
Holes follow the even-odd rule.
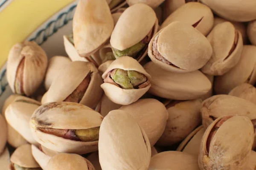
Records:
[[[139,99],[130,105],[121,106],[119,110],[126,111],[137,121],[145,130],[151,146],[166,128],[168,112],[163,103],[156,99]]]

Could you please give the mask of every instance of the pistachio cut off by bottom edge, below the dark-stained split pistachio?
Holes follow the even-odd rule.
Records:
[[[47,170],[95,170],[95,168],[90,161],[80,155],[59,153],[49,160]]]

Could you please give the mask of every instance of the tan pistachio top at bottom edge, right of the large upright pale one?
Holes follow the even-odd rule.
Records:
[[[148,170],[199,170],[196,156],[178,151],[157,153],[151,158]]]

